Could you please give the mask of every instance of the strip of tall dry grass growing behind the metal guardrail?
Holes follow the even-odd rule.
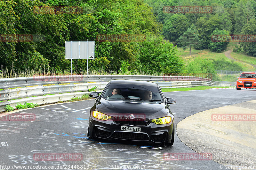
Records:
[[[17,78],[17,77],[34,77],[34,76],[57,76],[57,75],[71,75],[70,69],[66,70],[55,70],[48,68],[31,69],[26,68],[25,70],[15,70],[14,68],[7,69],[2,68],[0,72],[0,78]],[[86,70],[80,69],[79,71],[73,71],[72,75],[86,75]],[[134,71],[104,71],[104,70],[89,70],[88,75],[148,75],[148,76],[163,76],[162,72],[145,72],[141,70]]]

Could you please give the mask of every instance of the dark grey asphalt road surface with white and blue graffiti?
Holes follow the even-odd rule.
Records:
[[[256,90],[182,91],[164,95],[176,100],[171,105],[175,125],[204,110],[256,100]],[[51,169],[220,169],[220,164],[212,160],[166,160],[163,155],[169,153],[196,153],[176,134],[174,145],[169,147],[88,140],[89,110],[93,103],[94,100],[86,100],[37,107],[15,113],[35,114],[34,121],[0,121],[0,170],[50,169],[50,166]],[[72,153],[78,157],[69,157],[70,161],[37,160],[42,153]],[[81,154],[83,159],[77,160]]]

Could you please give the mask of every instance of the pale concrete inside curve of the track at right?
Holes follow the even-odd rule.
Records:
[[[255,168],[255,119],[256,100],[242,102],[186,117],[177,124],[177,135],[192,150],[209,153],[212,160],[226,165],[224,169],[227,166]]]

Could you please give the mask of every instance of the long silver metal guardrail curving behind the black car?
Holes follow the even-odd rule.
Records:
[[[139,75],[104,75],[104,76],[41,76],[0,79],[0,112],[10,105],[16,108],[18,103],[36,103],[38,105],[67,101],[72,97],[89,94],[92,87],[103,90],[112,79],[152,81],[160,88],[193,86],[229,86],[229,83],[212,81],[208,78],[189,76],[139,76]]]

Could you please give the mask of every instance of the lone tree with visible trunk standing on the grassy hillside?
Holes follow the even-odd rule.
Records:
[[[196,30],[192,29],[191,27],[177,39],[178,45],[185,49],[189,47],[189,55],[191,55],[191,46],[194,47],[196,43],[199,41],[198,34]]]

